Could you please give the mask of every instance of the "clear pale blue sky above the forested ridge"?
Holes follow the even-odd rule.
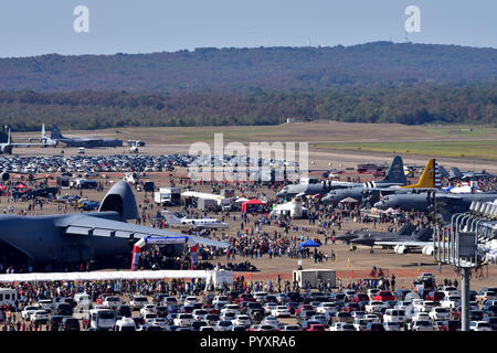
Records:
[[[88,33],[73,30],[77,6]],[[403,42],[408,6],[414,43],[497,47],[496,0],[4,0],[0,57]]]

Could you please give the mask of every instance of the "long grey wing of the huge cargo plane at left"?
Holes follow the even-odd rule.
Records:
[[[70,215],[56,221],[57,227],[64,228],[66,235],[89,235],[121,238],[145,238],[149,236],[175,237],[184,235],[178,232],[146,227],[137,224],[112,221],[88,215]],[[230,245],[201,236],[187,235],[189,240],[205,246],[228,248]]]

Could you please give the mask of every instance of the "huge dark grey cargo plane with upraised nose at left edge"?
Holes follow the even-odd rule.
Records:
[[[0,244],[24,254],[34,264],[83,263],[131,254],[140,238],[178,237],[177,232],[127,223],[137,220],[138,208],[130,186],[120,181],[103,199],[98,212],[44,216],[0,215]],[[181,235],[182,236],[182,235]],[[229,244],[188,236],[188,244],[228,247]],[[179,256],[184,244],[161,248],[166,256]]]

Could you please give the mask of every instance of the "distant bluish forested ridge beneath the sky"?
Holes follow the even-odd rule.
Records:
[[[247,93],[496,81],[496,49],[391,42],[0,58],[0,89],[4,90]]]

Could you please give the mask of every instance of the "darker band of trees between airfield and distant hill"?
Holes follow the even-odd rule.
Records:
[[[349,122],[497,125],[494,84],[147,94],[0,90],[0,121],[15,131],[129,126],[277,125],[287,118]]]

